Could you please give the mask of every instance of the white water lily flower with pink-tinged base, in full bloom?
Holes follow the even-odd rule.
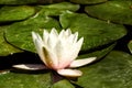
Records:
[[[43,37],[32,32],[32,37],[42,62],[62,76],[79,77],[82,73],[73,68],[87,65],[96,59],[96,57],[76,59],[84,37],[78,40],[78,32],[73,34],[70,29],[62,30],[59,34],[56,29],[52,29],[51,33],[44,30]],[[25,65],[20,67],[29,68]]]

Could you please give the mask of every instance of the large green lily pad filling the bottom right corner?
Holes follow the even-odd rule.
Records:
[[[132,55],[113,51],[102,61],[80,68],[77,85],[82,88],[131,88]]]

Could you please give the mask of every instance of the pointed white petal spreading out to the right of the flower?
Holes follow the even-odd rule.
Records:
[[[80,67],[80,66],[90,64],[90,63],[92,63],[94,61],[96,61],[96,57],[76,59],[76,61],[74,61],[74,62],[69,65],[69,67]]]

